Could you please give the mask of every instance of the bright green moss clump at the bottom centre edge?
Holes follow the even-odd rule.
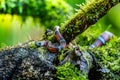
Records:
[[[73,65],[70,65],[70,63],[58,66],[56,76],[60,80],[87,80],[85,76],[80,74],[80,71]]]

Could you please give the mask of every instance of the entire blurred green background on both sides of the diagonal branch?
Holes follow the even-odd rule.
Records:
[[[42,38],[46,28],[61,25],[85,0],[0,0],[0,48]],[[105,30],[120,36],[120,4],[90,27],[96,36]],[[97,31],[97,32],[96,32]]]

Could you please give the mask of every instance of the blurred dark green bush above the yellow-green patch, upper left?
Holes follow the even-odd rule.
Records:
[[[24,16],[39,17],[46,27],[60,25],[72,8],[61,0],[2,0],[0,12]]]

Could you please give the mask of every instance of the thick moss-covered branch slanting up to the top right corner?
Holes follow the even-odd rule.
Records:
[[[84,32],[89,26],[95,24],[120,0],[86,0],[80,5],[78,12],[66,21],[60,28],[67,43],[71,42],[77,35]],[[48,38],[55,41],[54,35]]]

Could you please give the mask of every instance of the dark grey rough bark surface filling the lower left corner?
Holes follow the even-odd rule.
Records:
[[[53,64],[37,48],[25,46],[0,51],[0,80],[53,80],[55,72]]]

